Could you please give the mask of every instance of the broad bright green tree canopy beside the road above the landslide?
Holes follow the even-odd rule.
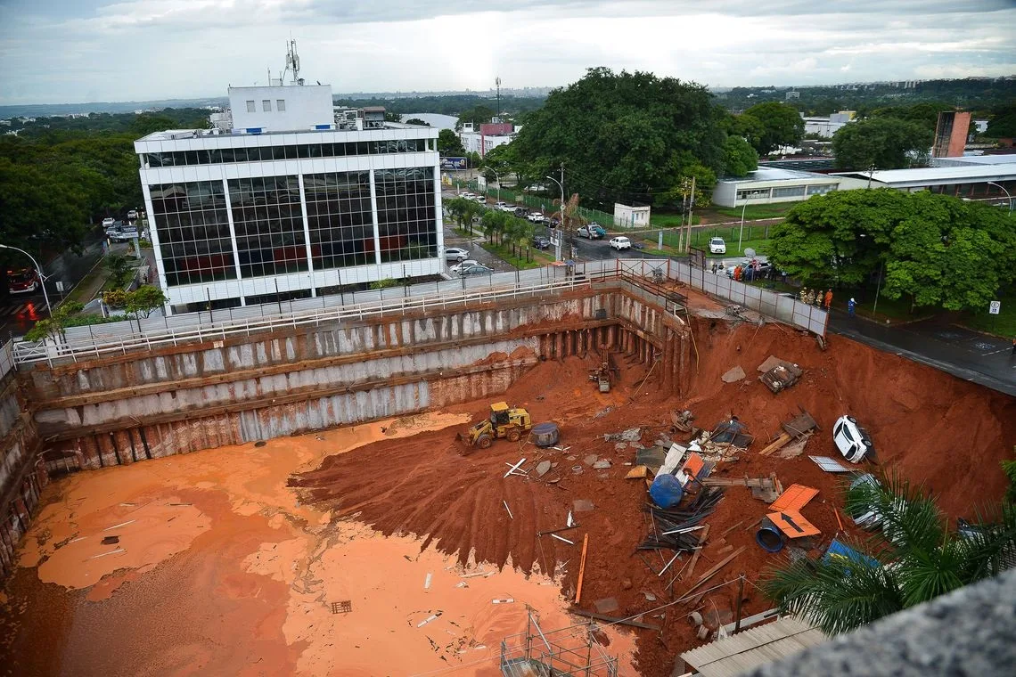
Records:
[[[922,191],[814,196],[772,227],[774,265],[812,286],[884,275],[882,294],[911,307],[981,310],[1011,284],[1016,228],[1005,210]]]

